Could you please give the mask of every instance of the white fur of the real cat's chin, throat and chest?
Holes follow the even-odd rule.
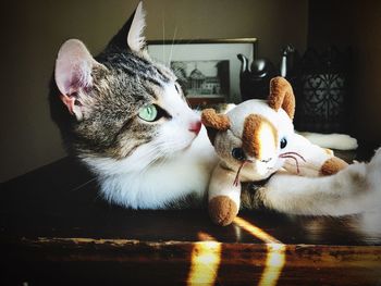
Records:
[[[162,209],[188,195],[201,201],[217,163],[205,128],[181,152],[153,164],[147,163],[142,152],[123,160],[82,160],[98,174],[100,191],[108,201],[133,209]]]

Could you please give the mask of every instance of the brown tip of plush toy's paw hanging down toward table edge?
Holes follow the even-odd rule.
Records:
[[[236,203],[226,196],[217,196],[209,201],[209,215],[216,224],[229,225],[237,213],[238,208]]]

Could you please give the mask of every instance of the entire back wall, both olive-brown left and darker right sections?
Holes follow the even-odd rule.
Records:
[[[50,120],[49,79],[69,38],[93,54],[124,24],[137,0],[26,1],[2,4],[0,182],[65,157]],[[292,43],[353,49],[351,134],[362,145],[381,142],[381,1],[145,0],[148,40],[258,39],[257,55],[274,64]]]

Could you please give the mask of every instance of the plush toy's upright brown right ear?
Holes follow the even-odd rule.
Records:
[[[278,76],[271,79],[268,103],[275,111],[282,108],[291,120],[294,119],[295,96],[292,86],[284,77]]]

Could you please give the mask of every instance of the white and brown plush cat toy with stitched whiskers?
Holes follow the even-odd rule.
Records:
[[[294,111],[293,89],[283,77],[271,80],[267,101],[247,100],[226,114],[217,114],[212,109],[202,111],[201,121],[220,158],[209,185],[208,208],[214,223],[232,223],[242,197],[249,197],[242,194],[243,182],[266,187],[269,178],[281,172],[317,177],[332,175],[347,165],[331,150],[294,132]],[[250,200],[251,206],[260,204],[258,195]],[[276,204],[276,199],[268,203]]]

